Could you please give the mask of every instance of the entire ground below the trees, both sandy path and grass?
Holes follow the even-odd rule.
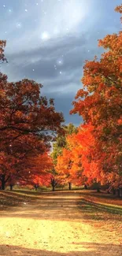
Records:
[[[0,256],[120,256],[122,200],[93,191],[0,191]]]

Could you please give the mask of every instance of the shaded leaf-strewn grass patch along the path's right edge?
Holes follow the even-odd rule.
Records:
[[[122,217],[121,199],[113,195],[93,191],[81,191],[78,203],[82,217],[94,221],[120,221]]]

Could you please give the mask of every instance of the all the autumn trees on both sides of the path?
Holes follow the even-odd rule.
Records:
[[[116,7],[122,13],[122,6]],[[0,59],[6,41],[0,41]],[[64,124],[54,99],[41,95],[42,84],[24,79],[9,82],[0,72],[1,189],[72,184],[122,196],[122,32],[98,41],[100,60],[86,61],[83,87],[71,114],[83,124]],[[50,143],[53,152],[50,154]]]

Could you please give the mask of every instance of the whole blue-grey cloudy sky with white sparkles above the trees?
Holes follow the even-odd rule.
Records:
[[[120,0],[1,0],[1,38],[9,64],[1,70],[9,81],[24,78],[43,83],[43,95],[55,99],[65,123],[82,121],[69,115],[82,87],[85,60],[100,56],[98,39],[120,31]]]

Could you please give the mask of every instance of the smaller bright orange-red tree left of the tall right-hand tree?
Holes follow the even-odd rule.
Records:
[[[97,166],[90,163],[92,151],[94,152],[94,139],[91,134],[92,127],[80,125],[77,133],[67,136],[68,148],[63,149],[57,158],[57,173],[69,179],[76,185],[89,185],[95,181]],[[94,172],[93,172],[94,167]],[[92,172],[92,175],[91,175]]]

